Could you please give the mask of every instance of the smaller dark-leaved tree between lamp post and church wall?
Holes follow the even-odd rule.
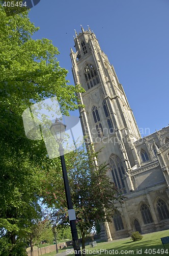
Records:
[[[115,201],[123,202],[115,184],[107,176],[107,165],[97,165],[98,153],[92,150],[88,154],[80,147],[66,155],[67,172],[73,206],[76,212],[77,227],[85,249],[85,237],[98,223],[111,222],[112,215],[118,211]],[[59,210],[53,212],[53,218],[63,225],[69,223],[66,201]]]

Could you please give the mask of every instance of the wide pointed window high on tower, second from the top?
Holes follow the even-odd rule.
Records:
[[[99,78],[98,78],[96,69],[91,64],[87,64],[85,66],[84,75],[85,75],[85,80],[87,82],[87,86],[89,85],[90,88],[92,88],[93,86],[96,86],[96,84],[99,83]]]

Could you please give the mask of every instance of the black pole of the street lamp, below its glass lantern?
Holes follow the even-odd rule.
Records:
[[[62,144],[59,144],[59,152],[60,152],[60,158],[61,158],[61,165],[62,165],[62,173],[63,173],[63,179],[64,179],[64,185],[65,185],[65,194],[66,194],[66,201],[68,206],[68,211],[73,210],[73,204],[70,194],[70,187],[69,187],[69,181],[68,181],[68,175],[66,171],[66,164],[65,164],[65,157],[64,157],[64,148]],[[70,216],[69,216],[70,218]],[[76,220],[70,219],[70,228],[72,233],[72,243],[73,243],[73,249],[76,251],[76,255],[81,255],[80,246],[78,242],[78,233],[76,228]]]

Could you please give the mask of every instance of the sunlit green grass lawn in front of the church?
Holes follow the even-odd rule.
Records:
[[[90,248],[86,246],[86,254],[89,255],[164,255],[169,256],[169,244],[165,248],[161,243],[161,237],[169,236],[169,230],[144,234],[143,239],[133,242],[131,238],[114,240],[112,242],[97,243],[97,246]],[[154,249],[154,250],[153,250]],[[123,250],[123,251],[122,251]],[[59,252],[62,252],[60,250]],[[93,253],[92,253],[93,252]],[[46,255],[55,256],[56,253],[46,253]],[[72,254],[67,254],[72,255]]]

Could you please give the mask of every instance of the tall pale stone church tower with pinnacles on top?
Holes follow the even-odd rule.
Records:
[[[95,34],[81,27],[74,38],[74,53],[71,49],[74,82],[81,84],[86,92],[79,93],[80,120],[87,143],[94,144],[96,151],[102,148],[101,162],[120,165],[119,172],[110,172],[110,177],[119,188],[119,193],[132,190],[128,171],[136,164],[133,142],[140,138],[138,127],[130,109],[122,84],[115,69],[100,49]]]

